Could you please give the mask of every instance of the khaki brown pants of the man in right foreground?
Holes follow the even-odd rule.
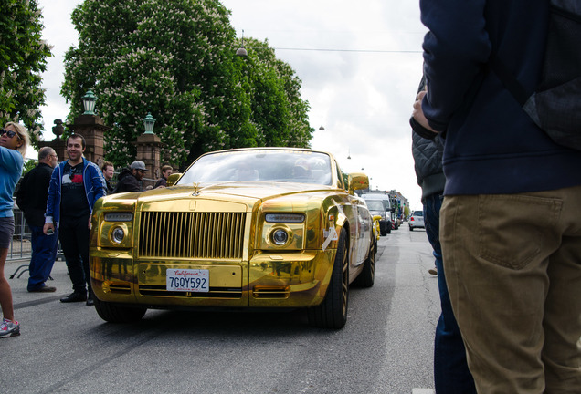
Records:
[[[444,199],[440,242],[479,393],[581,393],[581,186]]]

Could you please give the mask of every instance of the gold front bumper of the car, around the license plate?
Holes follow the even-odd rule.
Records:
[[[101,301],[152,308],[305,307],[322,302],[336,250],[257,253],[250,261],[140,260],[131,250],[90,250],[90,276]],[[209,291],[168,292],[166,270],[207,269]]]

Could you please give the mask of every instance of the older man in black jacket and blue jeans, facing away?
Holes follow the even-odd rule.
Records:
[[[26,173],[16,192],[16,203],[25,214],[26,223],[30,229],[32,256],[28,265],[30,277],[27,289],[34,293],[57,290],[46,282],[57,257],[58,230],[51,235],[45,235],[42,232],[45,225],[48,184],[57,161],[57,153],[52,148],[44,147],[38,150],[37,166]]]

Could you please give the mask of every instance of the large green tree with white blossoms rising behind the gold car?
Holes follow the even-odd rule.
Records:
[[[135,157],[132,141],[147,112],[164,153],[182,168],[210,150],[307,146],[312,130],[300,79],[266,44],[269,57],[262,50],[236,57],[229,14],[217,0],[86,0],[72,15],[79,47],[65,57],[69,121],[91,88],[113,127],[105,156],[116,165]]]

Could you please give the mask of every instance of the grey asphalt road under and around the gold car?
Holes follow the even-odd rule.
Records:
[[[405,223],[379,241],[375,285],[353,288],[347,325],[309,327],[301,311],[150,310],[139,324],[103,322],[69,294],[29,294],[9,279],[19,337],[0,339],[0,388],[19,393],[414,393],[433,388],[438,284],[425,231]],[[6,264],[11,275],[18,263]]]

